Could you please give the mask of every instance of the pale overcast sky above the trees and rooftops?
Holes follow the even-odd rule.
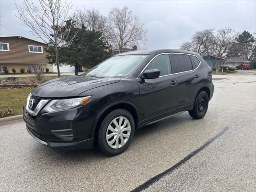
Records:
[[[16,3],[22,5],[21,1]],[[36,3],[36,0],[34,1]],[[230,27],[237,32],[256,32],[256,0],[246,1],[83,1],[73,0],[74,9],[97,8],[107,15],[112,7],[128,6],[148,29],[143,48],[179,48],[198,30]],[[3,27],[0,35],[28,34],[28,28],[15,17],[14,0],[0,0]]]

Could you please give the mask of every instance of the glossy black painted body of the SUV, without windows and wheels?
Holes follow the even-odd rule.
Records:
[[[154,79],[142,78],[142,70],[158,54],[169,54],[172,72],[172,54],[183,53],[198,57],[198,68],[177,74],[160,76]],[[39,98],[74,98],[91,96],[85,106],[46,112],[44,108],[37,116],[23,110],[23,118],[30,129],[45,138],[52,148],[76,150],[91,148],[101,118],[116,108],[128,110],[140,128],[164,117],[192,110],[194,100],[200,90],[208,93],[209,100],[214,92],[212,69],[197,53],[180,50],[144,50],[125,54],[144,54],[145,60],[132,74],[125,77],[67,76],[50,80],[32,91]],[[24,104],[26,106],[26,103]]]

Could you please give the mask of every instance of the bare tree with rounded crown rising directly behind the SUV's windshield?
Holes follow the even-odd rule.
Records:
[[[147,29],[139,18],[132,14],[127,6],[120,8],[112,8],[108,14],[107,33],[110,42],[119,48],[122,52],[124,46],[132,47],[138,42],[146,43]]]

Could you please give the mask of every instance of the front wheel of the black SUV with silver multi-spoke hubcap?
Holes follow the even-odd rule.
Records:
[[[134,131],[135,122],[130,112],[124,109],[114,110],[102,121],[98,134],[99,147],[108,156],[118,155],[128,148]]]

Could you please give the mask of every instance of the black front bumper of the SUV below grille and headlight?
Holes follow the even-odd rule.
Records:
[[[37,116],[28,114],[26,107],[23,109],[28,133],[39,143],[58,150],[92,148],[95,117],[96,111],[85,106],[50,113],[42,109]]]

